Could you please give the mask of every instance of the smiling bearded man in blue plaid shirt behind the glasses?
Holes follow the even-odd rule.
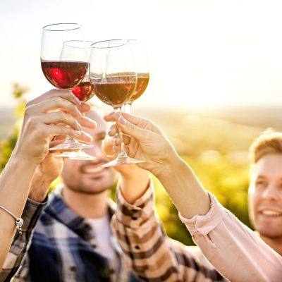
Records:
[[[13,281],[139,281],[123,266],[110,228],[115,205],[109,191],[116,183],[116,171],[101,166],[107,162],[102,152],[106,123],[97,111],[90,111],[87,117],[96,121],[97,128],[83,129],[93,137],[94,144],[85,151],[96,159],[63,162],[53,158],[56,164],[49,164],[35,176],[34,185],[50,185],[61,173],[63,185],[52,192],[35,227],[27,257]],[[121,172],[123,183],[147,187],[147,171],[128,167],[125,172]]]

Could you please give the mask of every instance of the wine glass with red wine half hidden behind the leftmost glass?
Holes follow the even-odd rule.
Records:
[[[63,42],[61,60],[68,59],[70,56],[73,56],[75,53],[76,53],[75,55],[76,58],[80,58],[80,56],[82,56],[81,59],[83,59],[83,57],[85,56],[85,52],[83,50],[86,50],[87,58],[88,58],[87,61],[89,61],[90,47],[93,43],[94,42],[92,41],[82,41],[82,40],[68,40],[66,42]],[[94,96],[94,92],[90,84],[88,71],[85,74],[85,77],[83,78],[82,82],[80,82],[80,84],[73,87],[72,92],[73,94],[75,94],[75,97],[77,97],[81,102],[87,102],[89,99],[91,99]],[[87,148],[88,147],[93,147],[93,145],[87,145]],[[68,159],[81,159],[81,160],[96,159],[90,154],[86,154],[85,152],[82,152],[81,149],[75,152],[63,152],[57,156],[68,157]]]

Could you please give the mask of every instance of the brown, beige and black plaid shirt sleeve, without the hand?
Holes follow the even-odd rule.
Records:
[[[151,187],[133,205],[117,193],[118,209],[111,221],[125,255],[125,264],[142,281],[227,281],[198,247],[168,238],[154,211]]]

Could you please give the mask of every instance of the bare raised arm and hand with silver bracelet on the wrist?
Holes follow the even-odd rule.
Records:
[[[63,109],[68,111],[69,114],[56,111],[56,109]],[[41,190],[38,188],[30,189],[34,173],[47,157],[49,145],[55,135],[70,135],[71,137],[80,137],[85,142],[91,141],[90,136],[80,132],[81,125],[76,120],[81,116],[80,111],[89,111],[89,109],[89,105],[81,104],[73,94],[64,90],[51,90],[27,103],[18,142],[8,164],[1,173],[0,205],[2,207],[20,218],[28,195],[35,201],[42,202],[44,200],[47,195],[46,187],[41,188]],[[59,123],[68,126],[58,125]],[[61,137],[59,137],[59,140],[55,142],[61,142]],[[32,214],[36,210],[29,209],[30,217],[23,214],[25,220],[22,226],[23,233],[27,231],[26,228],[30,227],[28,218],[32,221],[34,219]],[[35,216],[35,219],[37,219],[37,216]],[[0,269],[2,269],[16,233],[16,222],[11,214],[0,208],[0,223]],[[22,236],[26,238],[25,234]],[[18,233],[13,242],[14,246],[16,246],[17,238],[20,238]],[[12,261],[17,259],[17,255],[25,247],[26,244],[20,244],[12,250],[12,253],[9,254]],[[6,265],[8,268],[12,264],[7,259]]]

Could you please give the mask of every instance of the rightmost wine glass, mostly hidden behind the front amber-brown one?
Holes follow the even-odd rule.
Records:
[[[131,105],[138,99],[146,90],[149,83],[149,65],[147,60],[147,51],[145,41],[138,39],[128,39],[130,49],[133,53],[135,61],[135,70],[137,73],[137,85],[133,95],[124,104],[124,111],[131,113]]]

